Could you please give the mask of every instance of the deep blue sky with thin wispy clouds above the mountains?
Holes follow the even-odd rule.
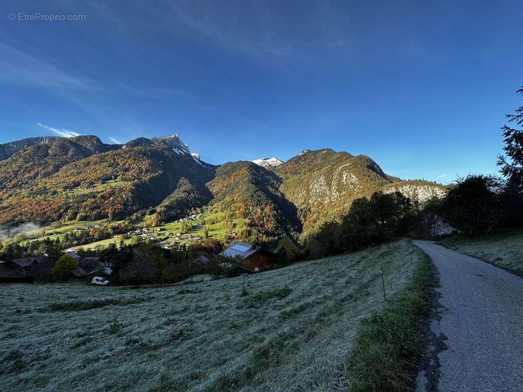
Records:
[[[448,182],[497,172],[522,103],[521,2],[2,3],[0,143],[178,133],[213,164],[329,147]]]

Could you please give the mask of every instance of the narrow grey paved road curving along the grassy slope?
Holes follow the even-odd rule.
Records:
[[[523,391],[523,279],[430,241],[413,242],[440,280],[430,360],[416,390]]]

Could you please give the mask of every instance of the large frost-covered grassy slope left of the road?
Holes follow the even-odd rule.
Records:
[[[379,270],[389,296],[402,291],[423,258],[415,250],[411,262],[412,249],[410,241],[400,240],[250,275],[247,296],[241,295],[243,278],[135,290],[83,283],[1,285],[0,388],[346,388],[360,322],[384,304]],[[281,290],[286,286],[290,294]],[[134,295],[154,298],[126,305],[125,297]],[[122,297],[123,306],[36,310],[52,301]]]

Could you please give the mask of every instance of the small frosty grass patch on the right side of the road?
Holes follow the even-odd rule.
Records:
[[[458,250],[496,266],[523,273],[523,229],[498,230],[475,237],[456,235],[439,241],[447,248]]]

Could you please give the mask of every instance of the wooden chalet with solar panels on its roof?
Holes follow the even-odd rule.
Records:
[[[242,265],[253,272],[270,270],[276,264],[276,253],[247,243],[236,243],[220,253],[220,256],[242,260]]]

